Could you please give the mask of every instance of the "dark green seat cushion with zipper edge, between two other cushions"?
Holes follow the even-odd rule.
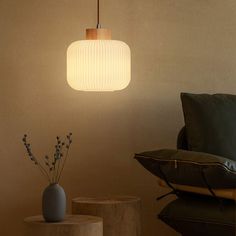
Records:
[[[236,162],[224,157],[186,150],[162,149],[135,154],[152,174],[174,184],[212,188],[236,187]],[[164,176],[163,176],[164,174]]]

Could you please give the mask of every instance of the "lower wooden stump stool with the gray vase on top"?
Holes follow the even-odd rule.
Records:
[[[66,216],[58,223],[46,223],[42,216],[24,220],[25,236],[103,236],[102,218],[86,215]]]

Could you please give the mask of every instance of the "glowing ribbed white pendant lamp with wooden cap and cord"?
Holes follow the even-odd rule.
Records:
[[[101,28],[99,11],[97,0],[97,27],[86,29],[86,40],[73,42],[67,49],[67,81],[76,90],[121,90],[131,79],[130,48]]]

